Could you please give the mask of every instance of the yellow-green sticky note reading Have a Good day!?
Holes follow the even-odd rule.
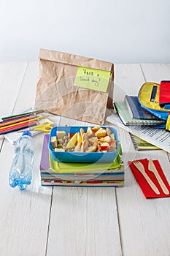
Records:
[[[77,67],[77,75],[74,80],[74,86],[107,92],[110,73],[110,71],[101,69]]]

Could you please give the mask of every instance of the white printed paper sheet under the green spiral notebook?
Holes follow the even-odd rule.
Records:
[[[125,126],[122,121],[120,121],[117,113],[112,113],[111,116],[108,116],[107,121],[170,153],[170,132],[166,132],[165,129],[142,126]]]

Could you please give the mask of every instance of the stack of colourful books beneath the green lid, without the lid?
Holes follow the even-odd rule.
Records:
[[[120,149],[120,165],[105,170],[85,170],[79,173],[64,173],[62,165],[59,172],[50,169],[50,159],[48,151],[49,135],[44,136],[42,157],[40,162],[40,176],[42,186],[58,187],[123,187],[124,185],[124,165],[122,151]],[[70,167],[70,164],[68,165]],[[71,170],[71,169],[70,169]]]

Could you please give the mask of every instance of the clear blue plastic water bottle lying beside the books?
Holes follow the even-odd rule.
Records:
[[[15,144],[15,153],[9,170],[9,185],[26,189],[31,184],[34,152],[31,132],[23,132]]]

